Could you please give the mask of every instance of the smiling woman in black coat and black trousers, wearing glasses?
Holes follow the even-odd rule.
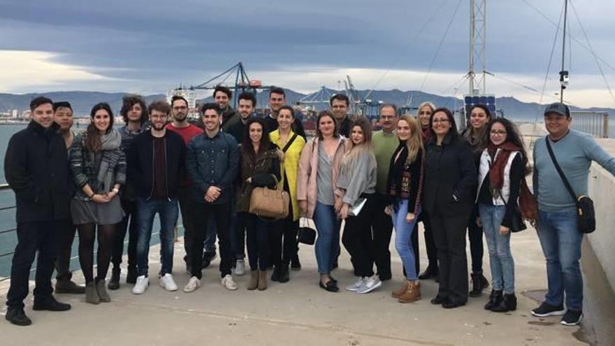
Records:
[[[468,301],[465,230],[475,206],[476,166],[472,148],[457,133],[450,110],[435,109],[430,123],[432,134],[425,148],[423,208],[431,219],[440,264],[440,287],[431,303],[457,308]]]

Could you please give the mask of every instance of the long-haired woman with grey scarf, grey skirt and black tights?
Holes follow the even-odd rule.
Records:
[[[98,103],[90,112],[92,122],[71,148],[71,170],[77,188],[71,201],[73,224],[79,233],[79,262],[85,276],[85,300],[110,301],[105,289],[115,227],[122,221],[120,187],[126,182],[126,159],[122,136],[113,129],[113,112]],[[98,232],[96,232],[98,229]],[[97,275],[94,278],[94,238],[98,236]]]

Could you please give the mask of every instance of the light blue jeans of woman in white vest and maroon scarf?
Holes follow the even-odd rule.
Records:
[[[514,294],[514,259],[510,252],[510,232],[505,236],[500,234],[500,225],[506,214],[506,206],[489,206],[480,203],[478,211],[489,250],[493,289],[496,291],[503,289],[505,294]]]

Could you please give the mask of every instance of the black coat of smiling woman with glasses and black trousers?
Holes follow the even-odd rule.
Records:
[[[423,208],[429,214],[463,215],[474,207],[477,168],[470,143],[449,132],[436,144],[427,142]]]

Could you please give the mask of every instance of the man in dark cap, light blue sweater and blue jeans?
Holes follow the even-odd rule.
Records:
[[[570,129],[570,110],[551,103],[544,111],[549,136],[534,144],[534,194],[538,201],[537,233],[547,259],[549,290],[532,315],[563,315],[561,324],[574,326],[583,318],[583,277],[579,259],[583,233],[577,226],[576,201],[560,179],[547,150],[547,140],[566,179],[577,196],[587,195],[587,177],[592,161],[615,175],[615,158],[593,138]],[[565,294],[564,294],[565,293]],[[564,308],[564,296],[566,308]]]

